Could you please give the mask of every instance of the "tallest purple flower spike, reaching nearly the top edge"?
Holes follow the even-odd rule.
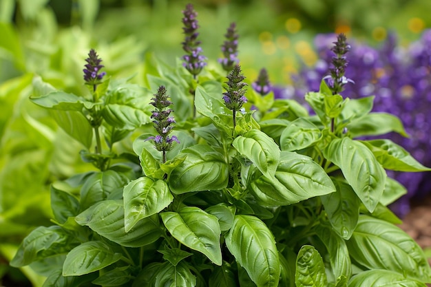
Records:
[[[182,49],[187,52],[185,56],[182,56],[184,63],[182,65],[193,75],[196,77],[200,71],[202,71],[203,67],[207,65],[205,63],[205,56],[202,56],[202,48],[199,46],[200,41],[198,41],[197,32],[199,25],[196,17],[198,13],[193,9],[193,5],[190,3],[187,4],[186,9],[182,11],[184,17],[182,18],[182,23],[184,27],[182,30],[185,34],[185,40],[182,42]]]

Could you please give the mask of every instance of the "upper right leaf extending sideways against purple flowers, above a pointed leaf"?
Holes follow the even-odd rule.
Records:
[[[395,131],[401,136],[408,137],[401,120],[392,114],[370,113],[362,118],[353,120],[347,125],[353,138],[358,136],[380,136]]]

